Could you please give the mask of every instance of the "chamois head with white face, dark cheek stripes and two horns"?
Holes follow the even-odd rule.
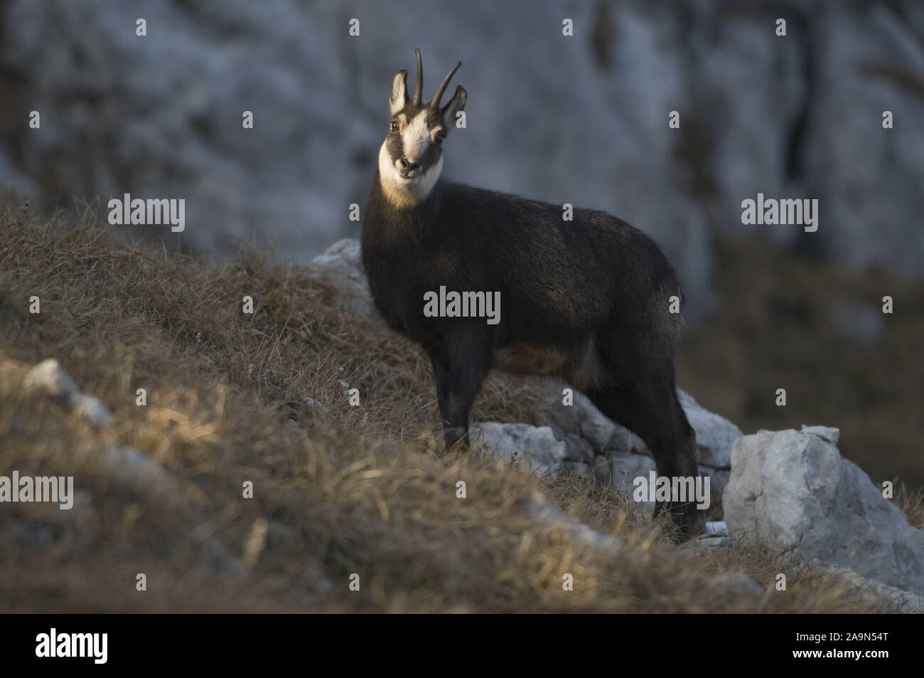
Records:
[[[411,207],[432,190],[443,170],[443,141],[456,123],[456,113],[465,108],[466,91],[456,87],[449,103],[440,106],[446,86],[458,62],[440,83],[429,102],[421,101],[423,67],[417,50],[417,83],[414,96],[407,94],[407,70],[399,70],[389,97],[391,121],[388,136],[379,150],[379,178],[388,200],[396,207]]]

